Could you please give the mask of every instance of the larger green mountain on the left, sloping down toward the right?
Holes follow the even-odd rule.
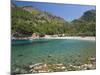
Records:
[[[11,18],[12,34],[17,36],[30,36],[32,33],[61,34],[67,24],[64,19],[31,6],[12,7]]]

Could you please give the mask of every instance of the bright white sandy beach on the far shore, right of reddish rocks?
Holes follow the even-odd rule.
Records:
[[[52,37],[52,36],[45,36],[44,39],[75,39],[75,40],[91,40],[95,41],[96,37],[81,37],[81,36],[67,36],[67,37]]]

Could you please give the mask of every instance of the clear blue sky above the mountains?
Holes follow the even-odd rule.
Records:
[[[14,1],[17,6],[33,6],[39,10],[46,11],[52,15],[61,17],[66,21],[72,21],[80,18],[87,10],[95,9],[92,5],[76,5],[76,4],[57,4],[44,2]]]

